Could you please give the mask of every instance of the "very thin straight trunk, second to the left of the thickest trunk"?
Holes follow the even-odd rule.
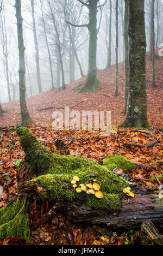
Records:
[[[115,72],[115,96],[118,96],[118,0],[116,0],[116,72]]]

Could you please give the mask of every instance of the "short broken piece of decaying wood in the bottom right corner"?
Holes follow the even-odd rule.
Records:
[[[151,221],[145,221],[141,225],[141,231],[145,234],[147,241],[152,245],[163,245],[163,236],[159,235],[158,230]]]

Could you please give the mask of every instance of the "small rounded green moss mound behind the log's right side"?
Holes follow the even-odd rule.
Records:
[[[135,170],[135,163],[131,162],[127,157],[120,155],[112,155],[105,157],[103,159],[103,165],[109,170],[114,170],[115,168],[127,169],[128,171]]]

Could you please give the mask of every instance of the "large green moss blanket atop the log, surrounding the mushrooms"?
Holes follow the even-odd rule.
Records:
[[[26,153],[27,162],[37,173],[34,181],[45,189],[45,192],[40,194],[41,199],[48,201],[72,201],[77,200],[83,194],[86,196],[85,204],[87,204],[90,195],[86,195],[85,192],[77,193],[76,189],[72,187],[71,180],[74,175],[77,175],[80,178],[77,186],[80,183],[87,184],[93,178],[96,178],[96,182],[101,186],[104,197],[98,199],[94,196],[92,205],[90,201],[89,207],[97,209],[99,204],[99,207],[106,209],[114,205],[115,210],[118,210],[120,204],[117,204],[117,199],[120,201],[119,196],[123,194],[122,190],[128,186],[128,182],[122,177],[113,174],[112,168],[108,170],[105,166],[99,165],[86,157],[53,154],[41,146],[39,140],[30,133],[28,128],[18,128],[17,134],[20,136],[20,143]],[[121,160],[121,162],[124,161]],[[127,159],[125,163],[128,166],[130,161]],[[114,163],[114,168],[118,166],[117,161]],[[114,194],[114,197],[111,197],[111,194]],[[107,198],[109,203],[106,203]]]

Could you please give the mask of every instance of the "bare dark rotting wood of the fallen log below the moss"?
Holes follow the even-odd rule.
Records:
[[[126,197],[121,201],[121,210],[112,212],[108,210],[92,210],[84,206],[86,194],[81,194],[78,201],[72,203],[64,201],[58,203],[59,211],[67,215],[73,222],[90,221],[93,224],[106,224],[115,228],[140,228],[142,222],[151,219],[153,223],[163,223],[163,199],[159,199],[153,189],[141,188],[134,184],[132,191],[135,198]],[[20,193],[38,195],[43,187],[32,182],[23,182],[19,185]],[[100,199],[99,199],[100,200]],[[59,207],[60,205],[60,207]]]

